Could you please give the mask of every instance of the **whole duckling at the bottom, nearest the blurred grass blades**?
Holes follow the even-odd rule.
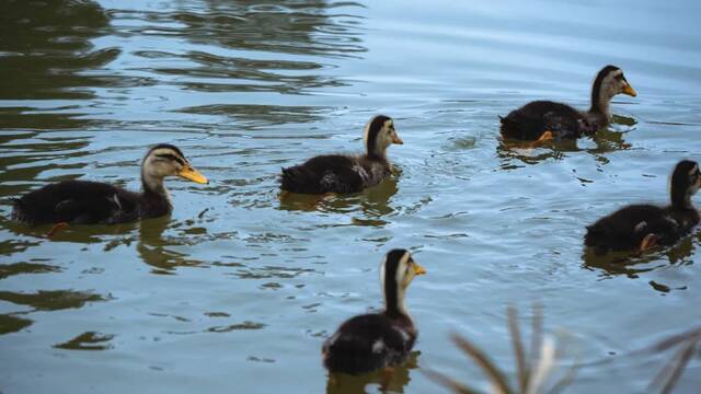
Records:
[[[406,250],[390,251],[380,266],[384,311],[358,315],[343,323],[322,348],[330,372],[360,374],[404,361],[418,332],[404,306],[404,293],[426,270]]]

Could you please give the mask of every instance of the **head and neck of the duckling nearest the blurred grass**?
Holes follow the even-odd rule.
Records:
[[[406,250],[390,251],[380,266],[380,281],[384,292],[386,313],[390,316],[409,316],[404,306],[406,288],[415,276],[426,270],[420,266]]]

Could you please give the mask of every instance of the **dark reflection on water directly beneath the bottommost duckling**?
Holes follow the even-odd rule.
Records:
[[[374,386],[380,393],[403,393],[404,387],[411,382],[410,371],[418,368],[421,351],[412,351],[406,362],[391,370],[377,371],[363,375],[348,375],[344,373],[329,374],[326,380],[326,394],[356,394],[371,393]]]

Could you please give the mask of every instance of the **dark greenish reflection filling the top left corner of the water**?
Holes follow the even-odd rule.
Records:
[[[88,86],[107,81],[79,71],[100,68],[119,55],[116,48],[91,51],[90,39],[107,34],[107,14],[94,1],[4,1],[0,69],[12,70],[12,78],[1,79],[0,99],[92,97]],[[3,116],[2,126],[23,127],[22,118]]]

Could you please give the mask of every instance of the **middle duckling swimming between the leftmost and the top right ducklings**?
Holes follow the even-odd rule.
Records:
[[[392,165],[387,160],[387,148],[404,143],[394,121],[377,115],[365,126],[363,155],[318,155],[302,164],[283,169],[280,188],[291,193],[324,194],[356,193],[379,184],[390,175]]]

